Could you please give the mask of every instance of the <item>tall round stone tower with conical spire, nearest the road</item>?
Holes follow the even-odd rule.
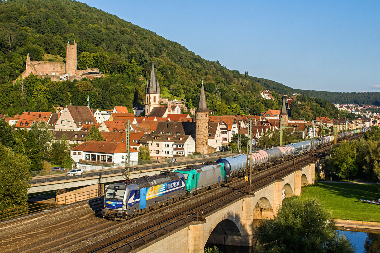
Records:
[[[202,82],[201,94],[199,94],[198,107],[195,111],[195,151],[202,154],[208,153],[209,140],[209,109],[206,104],[204,87]]]

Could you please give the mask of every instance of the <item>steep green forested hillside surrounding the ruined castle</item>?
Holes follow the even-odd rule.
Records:
[[[152,31],[76,1],[1,1],[0,22],[0,112],[9,115],[54,111],[70,101],[86,105],[87,93],[93,108],[125,105],[131,110],[143,101],[152,60],[163,97],[186,99],[189,107],[196,107],[203,80],[207,105],[217,115],[248,114],[248,109],[258,114],[280,108],[278,93],[294,91],[247,72],[231,71]],[[31,60],[64,61],[66,43],[74,40],[78,69],[99,68],[106,78],[51,82],[30,75],[13,85],[24,71],[27,53]],[[277,92],[272,94],[274,101],[261,98],[263,86]],[[334,106],[320,99],[294,106],[299,107],[292,113],[294,117],[309,118],[319,111],[323,113],[319,116],[337,114]]]

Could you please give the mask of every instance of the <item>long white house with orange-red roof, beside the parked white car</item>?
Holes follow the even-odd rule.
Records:
[[[130,148],[131,165],[138,162],[138,151]],[[125,144],[119,141],[86,141],[70,149],[71,157],[77,167],[88,165],[109,166],[125,163]]]

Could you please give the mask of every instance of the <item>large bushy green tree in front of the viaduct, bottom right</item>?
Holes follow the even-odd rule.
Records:
[[[261,220],[254,234],[263,252],[355,252],[347,237],[338,236],[331,212],[317,198],[285,199],[274,219]]]

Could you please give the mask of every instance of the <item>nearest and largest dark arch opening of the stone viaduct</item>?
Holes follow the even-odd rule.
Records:
[[[208,244],[240,245],[242,235],[236,224],[229,219],[222,220],[212,230]]]

